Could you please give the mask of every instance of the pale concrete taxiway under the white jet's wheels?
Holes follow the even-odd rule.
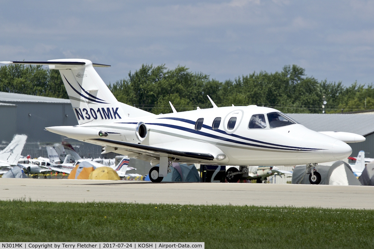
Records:
[[[0,200],[374,209],[372,186],[0,178]]]

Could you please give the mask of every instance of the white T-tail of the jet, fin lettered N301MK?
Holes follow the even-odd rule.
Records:
[[[107,85],[93,68],[109,65],[95,64],[85,59],[59,59],[48,61],[2,62],[14,64],[49,65],[58,69],[78,124],[95,125],[108,121],[151,116],[153,113],[118,102]]]

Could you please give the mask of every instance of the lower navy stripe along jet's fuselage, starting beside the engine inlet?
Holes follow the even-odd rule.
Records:
[[[293,150],[293,151],[316,151],[316,150],[318,151],[318,150],[320,150],[320,149],[308,149],[308,148],[305,148],[305,149],[277,148],[277,147],[271,147],[271,146],[266,146],[266,145],[261,145],[261,144],[252,144],[252,143],[246,143],[246,142],[242,142],[242,141],[236,141],[236,140],[233,140],[233,139],[230,139],[230,138],[224,138],[224,137],[216,136],[216,135],[213,135],[213,134],[205,133],[205,132],[202,132],[202,131],[196,131],[196,130],[193,130],[193,129],[190,129],[190,128],[178,126],[178,125],[169,125],[169,124],[161,124],[161,123],[147,123],[147,124],[174,128],[174,129],[187,131],[187,132],[190,132],[190,133],[199,134],[199,135],[202,135],[202,136],[205,136],[205,137],[211,137],[211,138],[215,138],[215,139],[218,139],[218,140],[223,140],[223,141],[227,141],[227,142],[231,142],[231,143],[243,144],[243,145],[254,146],[254,147],[261,147],[261,148],[267,148],[267,149]],[[278,146],[282,146],[282,145],[278,145]]]

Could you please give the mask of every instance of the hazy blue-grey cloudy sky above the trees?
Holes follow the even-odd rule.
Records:
[[[105,83],[144,63],[220,81],[296,64],[374,82],[374,1],[4,1],[0,61],[83,58]]]

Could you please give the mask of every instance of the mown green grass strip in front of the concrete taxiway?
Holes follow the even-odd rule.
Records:
[[[374,211],[0,201],[1,242],[205,242],[206,248],[373,248]]]

